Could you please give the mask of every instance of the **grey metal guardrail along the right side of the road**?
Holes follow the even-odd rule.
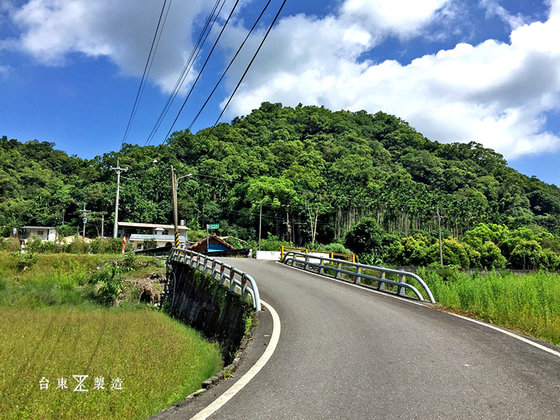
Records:
[[[318,260],[318,262],[312,262],[311,260]],[[307,270],[309,267],[315,267],[318,269],[319,274],[325,274],[325,270],[331,270],[335,272],[335,279],[340,279],[342,274],[349,274],[353,276],[354,283],[360,283],[360,279],[370,279],[377,281],[377,289],[384,290],[385,284],[391,284],[397,286],[398,295],[406,295],[406,289],[412,290],[412,293],[418,297],[418,300],[423,301],[424,298],[417,288],[407,283],[407,277],[415,279],[423,287],[428,299],[431,303],[435,303],[432,292],[425,281],[423,281],[419,276],[414,273],[403,272],[398,269],[390,269],[385,267],[376,267],[374,265],[365,265],[358,262],[349,262],[345,260],[337,260],[335,258],[323,258],[316,255],[311,255],[309,253],[302,253],[297,251],[287,251],[283,255],[281,260],[283,264],[290,264],[293,267],[296,265],[303,265],[303,269]],[[325,264],[325,262],[327,262]],[[346,267],[346,268],[344,268]],[[351,269],[347,269],[351,267]],[[364,270],[377,271],[379,276],[372,276],[370,274],[365,274]],[[398,281],[389,280],[386,278],[386,274],[398,274]]]

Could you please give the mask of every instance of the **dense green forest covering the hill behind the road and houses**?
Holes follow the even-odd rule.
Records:
[[[92,160],[55,144],[0,139],[2,234],[22,225],[112,232],[119,160],[120,221],[219,223],[222,235],[269,235],[296,245],[340,242],[372,262],[559,269],[560,190],[480,144],[440,144],[395,116],[263,103],[214,130],[175,132],[166,144],[125,144]],[[361,221],[358,223],[358,221]]]

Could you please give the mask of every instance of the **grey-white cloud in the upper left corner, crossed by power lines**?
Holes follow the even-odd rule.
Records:
[[[195,18],[209,10],[204,0],[172,3],[151,75],[171,90],[190,50]],[[134,0],[30,0],[8,9],[20,38],[4,48],[29,53],[46,65],[63,65],[71,53],[108,57],[125,75],[141,75],[162,3]]]

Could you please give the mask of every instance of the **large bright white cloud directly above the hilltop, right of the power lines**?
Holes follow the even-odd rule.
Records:
[[[510,43],[459,43],[409,64],[359,59],[374,50],[376,36],[360,35],[371,31],[348,16],[365,3],[347,0],[339,15],[321,20],[281,20],[230,105],[230,116],[246,114],[263,101],[302,102],[394,113],[430,139],[477,141],[510,159],[560,148],[558,134],[546,130],[545,117],[560,105],[560,1],[554,1],[547,22],[513,29]],[[398,18],[386,28],[419,31],[442,4],[433,1],[423,19]]]

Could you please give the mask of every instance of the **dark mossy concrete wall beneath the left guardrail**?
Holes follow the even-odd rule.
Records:
[[[172,269],[175,276],[169,277],[164,304],[172,316],[219,342],[225,363],[230,363],[253,307],[208,274],[176,261],[172,261]]]

